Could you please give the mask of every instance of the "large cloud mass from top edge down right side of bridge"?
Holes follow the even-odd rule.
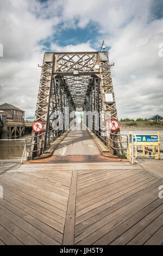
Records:
[[[109,50],[118,117],[148,117],[163,111],[162,42],[163,19],[154,17],[154,1],[68,0],[64,15],[77,18],[78,26],[98,22],[101,40]],[[97,46],[98,44],[96,44]],[[159,97],[158,97],[159,94]],[[148,107],[145,107],[148,106]]]

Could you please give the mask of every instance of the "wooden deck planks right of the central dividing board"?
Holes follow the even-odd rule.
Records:
[[[78,171],[75,244],[163,243],[162,181],[128,163],[98,168]]]

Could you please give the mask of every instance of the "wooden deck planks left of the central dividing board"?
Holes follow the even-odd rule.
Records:
[[[61,245],[72,170],[24,165],[0,176],[0,239],[9,245]]]

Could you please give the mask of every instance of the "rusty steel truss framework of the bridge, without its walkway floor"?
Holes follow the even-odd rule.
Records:
[[[120,129],[108,133],[110,120],[117,120],[111,66],[105,51],[44,54],[35,111],[35,121],[43,124],[43,130],[33,132],[28,159],[42,155],[48,145],[65,132],[72,111],[103,112],[103,126],[101,119],[95,122],[95,115],[91,115],[92,131],[112,155],[123,157]],[[64,119],[61,129],[57,123],[57,130],[52,123],[59,112]],[[88,127],[89,121],[87,118]]]

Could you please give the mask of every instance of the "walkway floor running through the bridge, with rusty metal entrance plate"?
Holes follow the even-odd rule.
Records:
[[[78,129],[78,130],[76,130]],[[85,127],[86,129],[86,127]],[[98,139],[98,138],[97,138]],[[106,150],[98,139],[98,143],[91,137],[87,130],[80,130],[80,124],[74,126],[64,139],[57,145],[53,155],[45,158],[31,160],[28,163],[72,163],[72,162],[110,162],[122,161],[116,156],[106,157],[101,155],[101,150]],[[126,161],[126,160],[123,160]]]

